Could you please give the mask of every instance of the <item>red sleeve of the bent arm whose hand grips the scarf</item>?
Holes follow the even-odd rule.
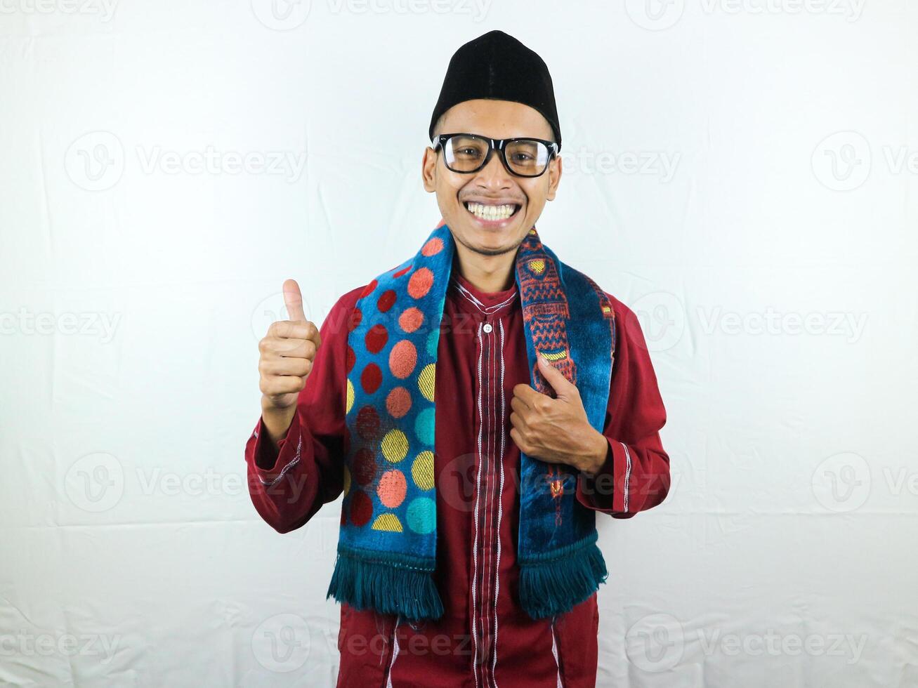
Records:
[[[660,442],[666,408],[640,323],[610,295],[616,350],[603,436],[606,459],[595,474],[580,472],[577,501],[613,518],[631,518],[669,493],[669,456]]]

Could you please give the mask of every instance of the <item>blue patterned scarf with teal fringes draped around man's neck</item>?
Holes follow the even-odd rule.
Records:
[[[434,376],[453,235],[441,219],[416,255],[367,284],[349,322],[344,496],[326,599],[411,620],[439,618]],[[554,396],[543,355],[577,385],[600,432],[615,355],[609,298],[529,230],[516,256],[532,386]],[[449,403],[449,397],[442,398]],[[608,577],[577,470],[521,454],[520,604],[533,619],[570,610]]]

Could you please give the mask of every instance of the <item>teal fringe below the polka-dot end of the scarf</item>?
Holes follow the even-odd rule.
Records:
[[[375,559],[381,555],[398,559],[395,553],[376,552],[371,560],[339,549],[325,599],[333,596],[354,609],[375,609],[380,614],[401,615],[412,621],[443,616],[432,571],[407,562]]]

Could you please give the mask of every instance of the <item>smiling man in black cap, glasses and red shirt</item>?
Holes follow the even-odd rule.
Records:
[[[339,686],[593,686],[595,514],[669,489],[655,373],[628,307],[535,231],[562,171],[541,58],[502,31],[466,43],[429,133],[442,220],[417,255],[320,330],[284,283],[252,502],[285,533],[344,494]]]

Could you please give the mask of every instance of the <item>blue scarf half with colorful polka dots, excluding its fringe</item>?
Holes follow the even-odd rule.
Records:
[[[345,545],[435,557],[440,333],[431,323],[442,317],[453,250],[441,224],[410,261],[364,287],[347,321],[345,418],[353,441],[345,466]],[[393,545],[393,534],[411,544]]]

